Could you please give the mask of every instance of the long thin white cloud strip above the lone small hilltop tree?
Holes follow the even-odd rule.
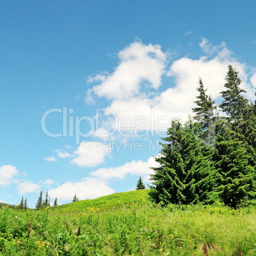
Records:
[[[127,174],[146,175],[153,173],[152,169],[149,167],[157,166],[159,165],[155,162],[154,157],[150,157],[146,162],[143,162],[142,160],[133,160],[132,162],[127,162],[118,167],[99,168],[97,171],[92,171],[90,175],[104,180],[112,178],[124,179]]]

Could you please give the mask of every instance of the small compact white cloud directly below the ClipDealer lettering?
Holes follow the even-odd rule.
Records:
[[[110,145],[96,141],[82,141],[74,152],[78,155],[71,161],[80,167],[94,167],[104,162],[106,155],[111,152]]]

